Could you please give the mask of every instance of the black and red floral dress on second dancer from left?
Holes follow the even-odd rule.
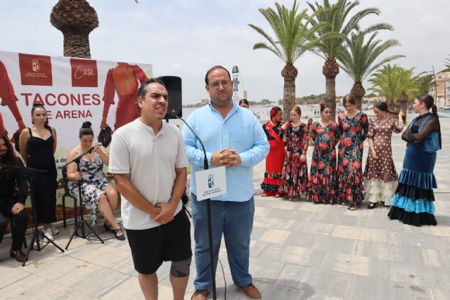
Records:
[[[306,193],[308,183],[307,162],[300,162],[300,156],[306,155],[308,150],[308,126],[302,123],[299,126],[290,126],[286,130],[281,128],[281,132],[288,139],[278,193],[290,197],[300,196]]]

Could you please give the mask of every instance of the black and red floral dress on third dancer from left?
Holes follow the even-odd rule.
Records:
[[[309,136],[314,141],[311,159],[307,200],[316,203],[334,204],[337,200],[336,145],[340,131],[336,122],[323,127],[319,122],[311,124]]]

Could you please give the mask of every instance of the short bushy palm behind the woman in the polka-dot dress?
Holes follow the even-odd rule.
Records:
[[[413,97],[417,84],[413,70],[413,67],[405,69],[398,65],[384,65],[369,80],[373,84],[371,90],[385,96],[391,107],[395,104],[396,110],[406,114],[406,104]]]

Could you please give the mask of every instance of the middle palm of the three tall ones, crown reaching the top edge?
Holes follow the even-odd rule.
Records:
[[[326,91],[326,104],[330,105],[333,111],[332,119],[335,119],[336,110],[336,88],[335,79],[339,74],[339,66],[336,60],[342,56],[345,52],[345,41],[353,30],[359,30],[359,20],[366,15],[379,15],[380,10],[378,8],[366,8],[362,11],[358,11],[352,17],[349,17],[349,13],[353,8],[359,5],[359,1],[347,1],[338,0],[335,4],[330,4],[330,1],[323,0],[323,4],[315,5],[308,3],[312,11],[316,13],[316,18],[313,20],[313,25],[320,24],[321,22],[329,22],[330,26],[322,27],[316,34],[318,37],[330,32],[340,33],[329,39],[321,41],[313,52],[321,56],[325,60],[325,64],[322,67],[322,74],[325,76],[325,91]],[[327,8],[325,11],[319,11],[323,8]]]

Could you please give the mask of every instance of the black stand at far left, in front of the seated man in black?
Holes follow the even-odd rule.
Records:
[[[44,233],[40,232],[37,228],[36,211],[34,210],[34,196],[33,196],[33,190],[32,190],[33,173],[34,172],[35,173],[47,173],[47,171],[41,170],[41,169],[29,168],[29,167],[10,166],[8,164],[0,164],[0,167],[8,167],[8,169],[11,169],[11,170],[12,169],[23,169],[23,171],[25,173],[25,178],[28,178],[28,182],[30,183],[31,210],[32,210],[32,215],[33,215],[33,225],[34,226],[33,226],[32,238],[30,240],[30,244],[28,246],[27,253],[25,254],[25,260],[23,261],[22,266],[25,266],[25,263],[27,262],[27,259],[28,259],[28,254],[30,254],[30,251],[32,249],[36,250],[37,252],[40,252],[49,243],[53,244],[53,246],[60,249],[61,252],[64,252],[64,250],[61,247],[59,247],[55,242],[53,242],[53,240],[50,240],[49,237],[46,237],[46,235],[44,235]],[[39,236],[42,237],[42,240],[47,240],[46,244],[44,244],[42,247],[41,247],[41,244],[39,243]],[[36,242],[36,248],[34,248],[34,242]]]

